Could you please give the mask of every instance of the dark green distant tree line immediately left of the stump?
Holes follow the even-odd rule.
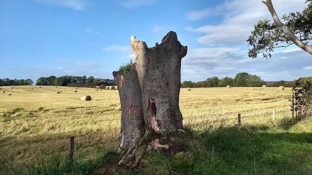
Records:
[[[93,76],[49,76],[40,77],[36,82],[37,86],[69,86],[69,87],[95,87],[99,85],[116,86],[115,80],[94,78]]]

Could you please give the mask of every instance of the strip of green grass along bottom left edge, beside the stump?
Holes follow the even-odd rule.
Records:
[[[63,155],[53,155],[37,158],[31,164],[25,163],[15,169],[8,167],[11,163],[8,160],[0,160],[0,175],[92,175],[99,165],[108,165],[118,158],[119,155],[115,151],[103,152],[96,158],[79,155],[73,161],[68,161]]]

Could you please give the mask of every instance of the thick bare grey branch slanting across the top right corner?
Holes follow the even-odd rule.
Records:
[[[278,16],[277,16],[276,12],[275,12],[275,10],[274,10],[273,4],[272,4],[272,0],[262,1],[262,3],[264,3],[264,4],[268,7],[268,9],[269,9],[269,11],[270,11],[270,13],[271,13],[271,15],[272,15],[272,17],[273,17],[273,21],[274,21],[275,25],[276,25],[278,28],[282,29],[282,31],[284,32],[284,34],[286,34],[286,35],[288,36],[288,38],[289,38],[295,45],[297,45],[299,48],[301,48],[302,50],[306,51],[307,53],[312,54],[312,47],[309,46],[308,44],[302,42],[300,39],[298,39],[298,38],[292,33],[292,31],[291,31],[285,24],[283,24],[283,23],[279,20],[279,18],[278,18]]]

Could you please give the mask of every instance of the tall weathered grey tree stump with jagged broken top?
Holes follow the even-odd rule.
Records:
[[[121,104],[119,164],[133,160],[137,148],[146,144],[151,133],[166,137],[183,129],[179,92],[181,59],[187,46],[182,46],[172,31],[153,48],[134,36],[131,45],[136,62],[130,62],[127,71],[113,72]],[[151,146],[168,148],[158,142],[160,138],[154,139],[155,145]]]

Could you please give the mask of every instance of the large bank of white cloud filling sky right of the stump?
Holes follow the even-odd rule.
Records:
[[[304,2],[305,0],[274,0],[273,5],[281,18],[285,13],[302,11],[307,5]],[[209,23],[210,19],[214,20],[215,14],[223,15],[223,19],[216,24]],[[185,30],[199,34],[195,40],[202,44],[202,48],[189,47],[186,57],[182,59],[182,81],[203,81],[212,76],[234,77],[239,72],[259,75],[266,81],[311,76],[311,55],[296,46],[276,49],[269,59],[248,57],[246,40],[251,35],[254,24],[265,18],[272,20],[268,8],[261,0],[226,1],[215,8],[203,7],[186,13],[185,17],[201,24],[185,27]]]

